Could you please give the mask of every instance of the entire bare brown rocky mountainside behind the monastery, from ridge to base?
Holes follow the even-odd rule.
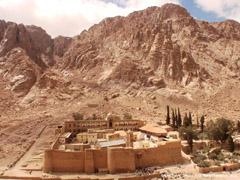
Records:
[[[73,38],[0,21],[0,139],[76,111],[158,122],[169,104],[194,120],[238,120],[239,69],[240,24],[199,21],[178,5],[107,18]]]

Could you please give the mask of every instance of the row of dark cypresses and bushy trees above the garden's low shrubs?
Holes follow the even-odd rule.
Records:
[[[171,109],[167,106],[166,124],[171,125],[177,130],[180,136],[187,140],[190,149],[193,149],[193,140],[197,139],[209,139],[215,140],[218,143],[226,143],[229,151],[234,151],[234,143],[232,139],[232,133],[240,130],[240,123],[238,127],[234,127],[234,123],[231,120],[225,118],[219,118],[216,121],[210,120],[205,123],[204,115],[196,119],[196,124],[193,125],[192,113],[185,113],[183,120],[180,109]]]

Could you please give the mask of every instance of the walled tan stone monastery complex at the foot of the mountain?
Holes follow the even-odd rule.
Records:
[[[181,141],[171,127],[141,120],[73,120],[58,126],[44,152],[44,172],[127,173],[183,162]]]

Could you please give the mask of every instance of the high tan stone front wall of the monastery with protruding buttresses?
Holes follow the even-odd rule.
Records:
[[[169,141],[146,149],[112,147],[85,151],[45,150],[44,172],[78,172],[92,174],[99,168],[109,173],[134,172],[138,167],[182,163],[180,141]]]

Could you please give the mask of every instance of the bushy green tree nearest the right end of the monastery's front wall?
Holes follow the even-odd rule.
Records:
[[[193,150],[193,140],[197,139],[197,133],[191,126],[188,127],[180,127],[178,129],[179,135],[184,139],[187,140],[190,150]]]

